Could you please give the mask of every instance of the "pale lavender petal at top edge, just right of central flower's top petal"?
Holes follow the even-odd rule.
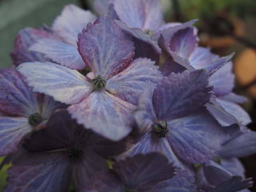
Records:
[[[130,27],[144,29],[146,20],[146,7],[144,1],[129,0],[118,1],[113,0],[114,8],[120,20]]]

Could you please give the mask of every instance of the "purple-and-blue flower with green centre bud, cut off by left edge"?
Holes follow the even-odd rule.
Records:
[[[16,70],[0,69],[0,156],[14,151],[23,136],[46,124],[51,114],[65,104],[32,92]]]

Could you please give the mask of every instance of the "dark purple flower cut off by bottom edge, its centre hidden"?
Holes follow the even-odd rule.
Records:
[[[195,192],[194,178],[175,168],[157,152],[120,160],[113,170],[104,170],[82,192]]]

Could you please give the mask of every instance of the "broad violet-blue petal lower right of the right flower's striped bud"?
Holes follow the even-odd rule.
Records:
[[[184,118],[167,122],[170,126],[168,141],[180,158],[202,164],[214,159],[222,144],[230,138],[228,133],[202,108]]]

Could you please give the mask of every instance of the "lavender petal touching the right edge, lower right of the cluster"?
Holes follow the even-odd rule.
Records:
[[[239,158],[254,153],[256,153],[256,132],[251,130],[246,130],[244,134],[227,142],[224,149],[219,152],[222,158]]]

